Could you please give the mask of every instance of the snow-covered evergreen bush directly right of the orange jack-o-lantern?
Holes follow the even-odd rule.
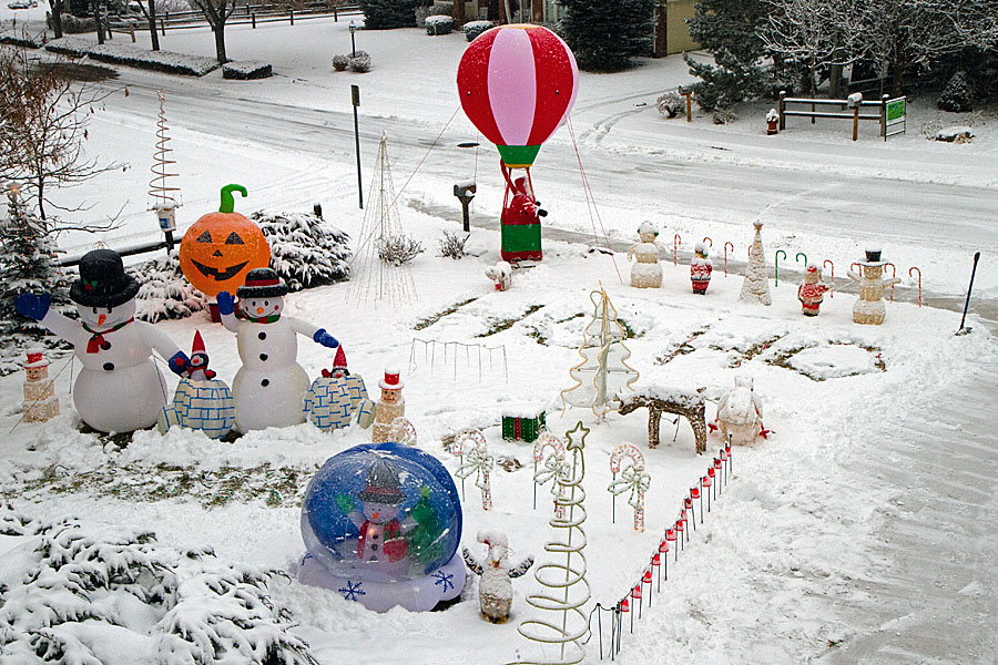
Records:
[[[249,218],[259,225],[271,244],[271,267],[295,291],[348,279],[349,236],[312,213],[256,212]]]

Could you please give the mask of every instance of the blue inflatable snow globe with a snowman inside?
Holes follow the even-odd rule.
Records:
[[[457,488],[416,448],[368,443],[326,460],[305,491],[302,538],[298,580],[376,612],[432,610],[465,583]]]

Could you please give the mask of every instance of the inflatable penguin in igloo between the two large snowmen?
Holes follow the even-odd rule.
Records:
[[[202,430],[212,439],[220,439],[235,424],[235,403],[225,381],[208,369],[201,331],[194,331],[191,359],[181,371],[181,381],[173,395],[173,403],[160,413],[157,427],[166,433],[171,427]]]

